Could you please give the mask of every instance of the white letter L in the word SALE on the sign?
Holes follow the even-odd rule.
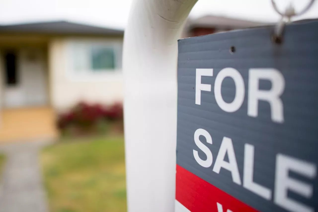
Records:
[[[253,182],[254,173],[254,146],[245,144],[244,146],[244,170],[243,170],[243,187],[258,194],[259,196],[270,200],[272,191],[256,182]]]

